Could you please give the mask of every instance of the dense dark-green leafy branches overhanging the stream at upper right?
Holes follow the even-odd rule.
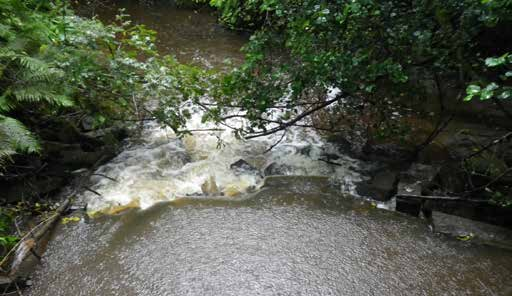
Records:
[[[256,31],[244,47],[245,63],[216,87],[219,107],[210,117],[222,118],[229,107],[241,106],[250,128],[261,129],[268,122],[261,118],[274,114],[274,106],[284,104],[293,113],[301,102],[324,101],[330,87],[375,105],[386,97],[424,99],[422,83],[432,77],[465,85],[471,73],[483,71],[481,33],[512,17],[509,0],[212,0],[211,5],[228,26]]]

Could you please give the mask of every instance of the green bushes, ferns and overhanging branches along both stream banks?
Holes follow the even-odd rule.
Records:
[[[179,3],[210,5],[223,25],[250,34],[243,64],[225,73],[161,56],[156,32],[122,12],[103,24],[65,0],[0,0],[2,186],[38,187],[3,198],[4,254],[17,217],[50,211],[74,171],[115,155],[127,129],[157,119],[192,132],[186,102],[205,122],[246,119],[230,126],[240,138],[316,128],[359,156],[405,151],[408,164],[450,123],[481,113],[499,129],[454,157],[462,183],[430,193],[511,205],[512,1]]]

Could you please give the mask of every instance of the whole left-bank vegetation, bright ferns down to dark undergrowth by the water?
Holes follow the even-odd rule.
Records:
[[[49,210],[48,198],[72,171],[115,154],[125,136],[119,123],[145,120],[149,98],[181,96],[174,77],[195,72],[160,57],[155,32],[132,25],[122,12],[104,25],[78,17],[67,1],[2,0],[0,15],[5,254],[17,241],[8,235],[17,216]],[[179,74],[184,69],[187,75]]]

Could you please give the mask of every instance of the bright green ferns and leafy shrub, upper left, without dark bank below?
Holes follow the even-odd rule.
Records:
[[[74,15],[66,0],[0,0],[0,159],[39,152],[29,130],[47,118],[90,116],[96,128],[141,119],[173,81],[161,69],[177,66],[158,56],[155,36],[123,11],[104,25]]]

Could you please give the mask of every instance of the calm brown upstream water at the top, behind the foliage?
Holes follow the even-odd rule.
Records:
[[[133,24],[143,24],[157,32],[157,47],[162,54],[175,55],[180,62],[224,67],[225,62],[238,64],[240,48],[247,36],[224,29],[207,8],[177,9],[172,1],[92,1],[79,4],[80,15],[96,15],[105,23],[115,20],[120,8],[131,16]]]

